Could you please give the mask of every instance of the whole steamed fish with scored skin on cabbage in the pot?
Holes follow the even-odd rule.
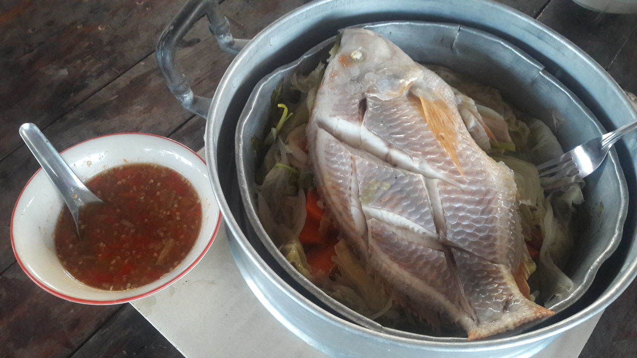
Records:
[[[347,29],[306,131],[318,190],[368,270],[475,340],[554,312],[529,299],[513,173],[476,144],[456,95],[379,34]]]

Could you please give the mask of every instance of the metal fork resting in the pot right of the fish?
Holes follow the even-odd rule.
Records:
[[[624,134],[637,129],[637,122],[622,125],[615,131],[578,145],[568,152],[538,166],[544,189],[555,189],[582,180],[604,161],[608,150]]]

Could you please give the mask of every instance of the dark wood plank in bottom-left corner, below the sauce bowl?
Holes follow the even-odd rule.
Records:
[[[15,264],[0,276],[0,357],[66,357],[119,308],[52,296]]]

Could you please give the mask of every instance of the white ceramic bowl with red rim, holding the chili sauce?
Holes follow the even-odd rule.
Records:
[[[208,180],[206,164],[184,145],[161,136],[143,133],[110,134],[83,141],[62,152],[80,180],[130,163],[161,164],[182,174],[201,199],[203,221],[190,253],[173,271],[159,280],[125,291],[99,290],[71,276],[55,254],[53,232],[64,201],[39,169],[18,197],[11,216],[11,245],[24,272],[42,289],[78,303],[115,304],[132,301],[168,287],[192,269],[206,253],[221,222],[217,201]]]

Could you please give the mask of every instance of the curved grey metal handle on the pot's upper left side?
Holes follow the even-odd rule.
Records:
[[[206,15],[210,22],[210,32],[217,38],[221,49],[231,54],[238,54],[250,40],[233,38],[230,33],[230,24],[219,12],[218,6],[217,0],[189,0],[164,29],[157,43],[157,64],[166,78],[168,89],[182,103],[183,108],[204,118],[208,118],[212,98],[195,96],[175,63],[175,50],[192,25]]]

